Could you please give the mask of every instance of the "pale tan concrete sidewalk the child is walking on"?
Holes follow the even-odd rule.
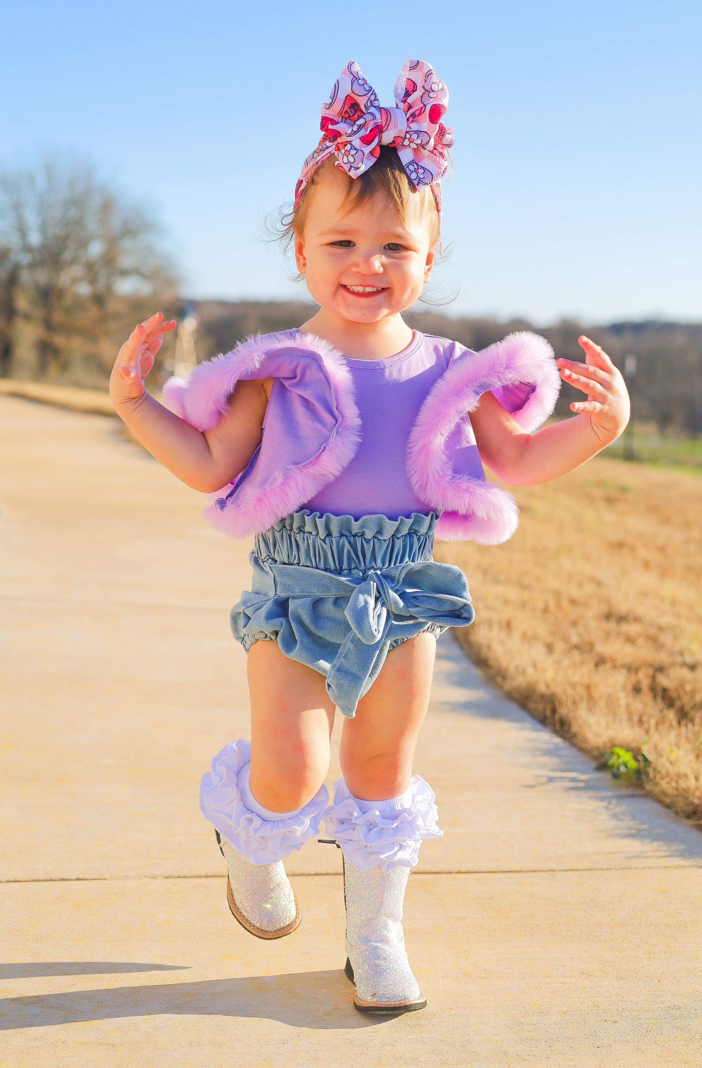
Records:
[[[353,1010],[333,847],[290,859],[294,934],[239,928],[196,795],[248,733],[248,546],[202,506],[117,421],[0,396],[2,1068],[702,1065],[702,834],[449,634],[406,902],[429,1008]]]

